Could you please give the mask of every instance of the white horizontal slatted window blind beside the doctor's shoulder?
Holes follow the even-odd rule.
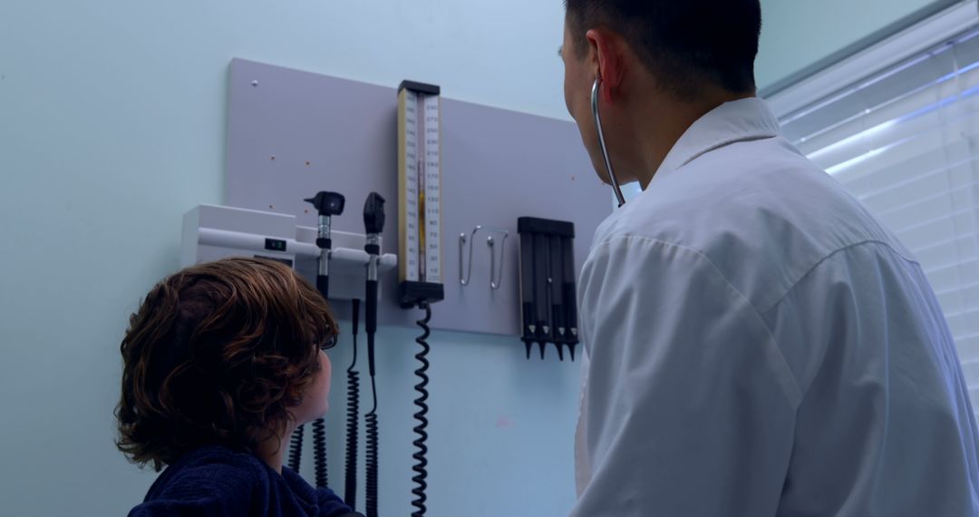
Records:
[[[979,29],[781,119],[923,266],[979,409]]]

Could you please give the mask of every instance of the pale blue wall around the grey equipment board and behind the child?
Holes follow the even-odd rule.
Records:
[[[153,481],[113,446],[117,347],[181,215],[222,201],[232,57],[563,118],[562,21],[558,1],[0,2],[0,513],[119,515]],[[409,512],[413,336],[379,338],[386,515]],[[433,341],[430,515],[566,514],[577,366]]]

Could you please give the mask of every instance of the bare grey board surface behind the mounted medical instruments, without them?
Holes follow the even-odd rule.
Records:
[[[395,246],[396,107],[394,87],[234,60],[227,204],[295,214],[300,224],[314,226],[315,212],[303,198],[333,190],[347,197],[334,228],[362,233],[363,201],[376,191],[388,200],[384,239]],[[445,301],[435,307],[433,327],[517,335],[517,218],[573,221],[580,270],[592,232],[612,210],[610,191],[595,176],[572,122],[443,97],[442,131]],[[478,224],[510,230],[497,291],[489,289],[485,236],[476,242],[472,282],[459,285],[458,236]],[[383,279],[380,322],[413,325],[418,313],[397,307],[396,281],[396,274]],[[346,304],[335,308],[349,315]]]

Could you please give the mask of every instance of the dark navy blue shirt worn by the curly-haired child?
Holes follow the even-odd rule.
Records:
[[[246,452],[201,447],[168,466],[129,517],[344,517],[356,516],[329,489],[313,489],[301,476],[282,474]]]

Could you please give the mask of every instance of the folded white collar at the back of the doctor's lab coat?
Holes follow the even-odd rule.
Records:
[[[778,118],[762,99],[752,97],[724,103],[687,128],[652,181],[724,146],[780,134]]]

